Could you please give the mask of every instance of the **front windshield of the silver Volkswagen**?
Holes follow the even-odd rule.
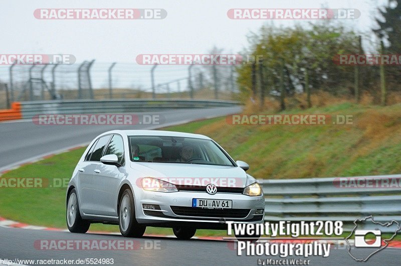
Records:
[[[171,136],[130,136],[134,162],[189,163],[235,166],[228,155],[209,139]]]

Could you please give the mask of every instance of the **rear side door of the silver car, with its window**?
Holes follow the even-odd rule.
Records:
[[[81,205],[82,211],[87,214],[96,214],[94,204],[94,175],[96,169],[100,164],[100,158],[103,155],[104,149],[109,142],[111,135],[100,137],[95,143],[90,156],[86,156],[86,160],[82,163],[82,166],[78,169],[79,182],[81,186]],[[89,153],[88,153],[89,155]]]

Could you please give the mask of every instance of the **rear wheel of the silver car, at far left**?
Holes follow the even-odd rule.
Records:
[[[72,233],[86,233],[89,230],[90,222],[82,219],[79,213],[77,191],[73,188],[67,198],[67,227]]]

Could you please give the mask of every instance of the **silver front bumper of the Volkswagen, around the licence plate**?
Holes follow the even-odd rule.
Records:
[[[196,228],[225,229],[224,221],[261,223],[264,220],[264,212],[262,214],[255,213],[257,209],[265,209],[263,195],[247,196],[233,193],[210,195],[206,192],[152,192],[143,190],[139,191],[139,194],[139,197],[135,195],[136,219],[139,223],[149,226],[172,227],[181,224]],[[197,212],[196,215],[191,215],[189,213],[192,213],[190,210],[193,208],[193,198],[232,200],[233,208],[222,209],[221,211],[214,209],[210,213],[208,213],[208,209],[202,209],[199,212],[195,211]],[[160,210],[143,209],[143,204],[158,205]]]

